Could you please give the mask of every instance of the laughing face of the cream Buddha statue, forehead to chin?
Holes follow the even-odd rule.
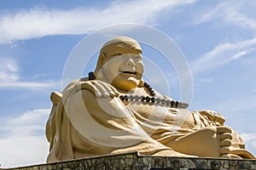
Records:
[[[143,77],[144,65],[140,50],[115,46],[108,51],[102,66],[105,82],[120,90],[137,88]]]

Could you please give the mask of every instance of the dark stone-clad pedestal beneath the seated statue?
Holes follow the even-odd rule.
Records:
[[[72,161],[59,161],[29,167],[15,167],[14,170],[39,169],[138,169],[138,170],[171,170],[171,169],[256,169],[256,160],[237,160],[220,158],[194,157],[160,157],[138,156],[128,153],[113,156],[96,156]]]

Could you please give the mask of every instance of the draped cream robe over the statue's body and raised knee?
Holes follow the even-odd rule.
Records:
[[[89,90],[81,89],[81,83],[74,81],[61,94],[51,95],[53,106],[46,125],[50,144],[47,162],[128,152],[189,156],[173,150],[171,141],[221,125],[202,116],[200,111],[123,102],[116,97],[99,99]],[[166,98],[159,93],[156,97]],[[247,153],[241,138],[233,133],[233,146]]]

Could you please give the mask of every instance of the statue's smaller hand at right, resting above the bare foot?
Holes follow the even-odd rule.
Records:
[[[201,116],[207,117],[209,121],[214,122],[214,124],[216,124],[217,126],[224,125],[224,122],[225,122],[224,116],[222,116],[219,112],[209,111],[209,110],[198,111],[198,112],[201,114]]]

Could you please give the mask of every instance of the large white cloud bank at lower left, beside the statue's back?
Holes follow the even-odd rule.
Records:
[[[0,164],[17,167],[44,163],[49,144],[44,136],[49,109],[28,111],[5,117],[0,126]]]

